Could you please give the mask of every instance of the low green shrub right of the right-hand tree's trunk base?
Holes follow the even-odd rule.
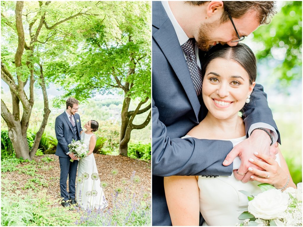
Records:
[[[151,160],[151,144],[128,143],[128,157]]]

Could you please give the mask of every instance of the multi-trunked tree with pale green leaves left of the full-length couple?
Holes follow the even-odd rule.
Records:
[[[1,116],[8,126],[16,157],[32,160],[50,113],[44,66],[67,55],[68,49],[76,48],[74,40],[79,27],[87,17],[97,15],[90,13],[97,10],[96,2],[2,1],[1,6],[1,78],[12,95],[11,111],[5,99],[1,99]],[[29,94],[25,89],[27,83]],[[34,86],[42,89],[44,115],[29,150],[26,132],[34,105]]]

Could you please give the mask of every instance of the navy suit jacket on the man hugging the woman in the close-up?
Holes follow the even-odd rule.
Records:
[[[199,58],[204,54],[200,51]],[[171,225],[163,176],[231,175],[223,166],[230,141],[181,139],[207,114],[197,97],[175,29],[161,2],[152,2],[152,225]],[[256,85],[243,108],[246,133],[264,122],[278,132],[266,94]],[[279,135],[279,133],[278,133]]]

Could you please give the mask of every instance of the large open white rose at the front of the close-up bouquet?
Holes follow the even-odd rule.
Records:
[[[269,189],[248,202],[248,212],[265,220],[275,219],[287,209],[289,195],[278,189]]]

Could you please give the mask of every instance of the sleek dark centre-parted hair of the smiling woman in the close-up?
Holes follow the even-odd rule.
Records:
[[[203,77],[208,64],[216,58],[231,59],[238,62],[248,73],[250,84],[256,80],[257,60],[252,50],[244,43],[238,43],[237,46],[217,44],[211,47],[203,61],[203,68],[201,69]]]

